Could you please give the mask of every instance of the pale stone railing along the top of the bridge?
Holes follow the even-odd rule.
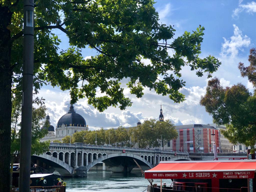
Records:
[[[118,149],[118,150],[132,150],[132,151],[145,151],[145,152],[159,152],[159,153],[173,153],[173,154],[184,154],[188,155],[188,152],[181,151],[169,151],[169,150],[159,150],[159,149],[145,149],[145,148],[135,148],[135,147],[116,147],[107,145],[89,145],[83,143],[50,143],[51,146],[70,146],[70,147],[87,147],[87,148],[97,148],[97,149]]]

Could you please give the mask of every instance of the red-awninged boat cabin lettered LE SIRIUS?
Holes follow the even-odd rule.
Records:
[[[148,191],[255,192],[256,160],[164,161],[145,171],[146,179],[161,184]],[[162,185],[162,179],[172,179]]]

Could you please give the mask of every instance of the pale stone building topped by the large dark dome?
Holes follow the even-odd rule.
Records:
[[[46,116],[46,119],[50,117],[49,115]],[[52,125],[49,126],[48,132],[52,132],[50,130],[53,130],[54,132],[54,127]],[[49,137],[48,135],[42,138],[40,141],[47,141],[47,140],[62,140],[65,136],[68,135],[73,135],[76,132],[80,131],[88,131],[88,125],[86,125],[85,119],[76,111],[74,110],[74,106],[71,104],[69,107],[69,111],[63,115],[55,129],[55,135],[54,137]]]

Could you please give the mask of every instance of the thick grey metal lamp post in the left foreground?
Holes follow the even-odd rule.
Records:
[[[33,65],[34,65],[34,0],[24,0],[24,45],[22,118],[20,135],[19,191],[27,192],[30,186]]]

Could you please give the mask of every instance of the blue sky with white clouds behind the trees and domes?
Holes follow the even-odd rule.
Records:
[[[205,35],[200,57],[213,55],[222,62],[213,77],[218,77],[224,87],[241,82],[252,91],[252,84],[247,78],[240,76],[237,66],[240,61],[249,65],[249,50],[256,44],[256,2],[158,0],[154,6],[159,13],[160,23],[174,25],[176,37],[184,31],[196,30],[199,25],[204,26]],[[67,49],[69,43],[65,34],[61,31],[55,32],[62,41],[59,47]],[[84,49],[82,54],[87,58],[97,52]],[[131,107],[123,111],[109,107],[104,112],[99,112],[84,98],[74,104],[74,109],[84,117],[91,130],[95,126],[104,129],[129,127],[135,126],[138,120],[143,122],[146,118],[158,119],[161,104],[164,118],[171,119],[175,125],[212,123],[212,117],[199,104],[209,79],[206,75],[197,77],[195,71],[190,71],[188,67],[184,67],[181,73],[182,79],[186,81],[186,86],[180,90],[186,97],[183,103],[174,103],[168,96],[158,95],[148,89],[144,90],[143,98],[138,99],[125,88],[124,80],[122,86],[125,88],[125,96],[133,102]],[[69,91],[63,92],[58,87],[44,86],[37,96],[45,99],[50,122],[56,126],[59,118],[69,110]]]

